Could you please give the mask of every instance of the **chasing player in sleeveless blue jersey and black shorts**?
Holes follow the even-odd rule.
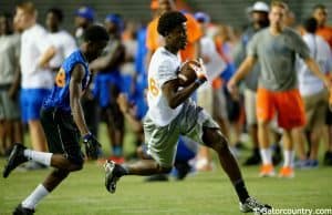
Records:
[[[54,170],[15,208],[13,214],[33,214],[35,205],[51,193],[71,172],[83,167],[80,136],[83,136],[87,157],[97,158],[101,144],[89,131],[80,99],[89,88],[89,63],[96,59],[108,41],[103,27],[92,25],[84,32],[80,49],[66,58],[55,76],[52,93],[45,99],[41,122],[46,134],[49,153],[37,152],[17,143],[8,158],[3,177],[29,160]]]

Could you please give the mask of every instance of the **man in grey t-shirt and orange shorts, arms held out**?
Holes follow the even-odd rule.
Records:
[[[269,122],[274,112],[278,124],[283,129],[284,164],[279,176],[293,177],[293,140],[292,133],[305,124],[303,101],[298,90],[294,69],[295,55],[303,59],[308,68],[330,88],[331,83],[310,57],[307,44],[301,37],[283,25],[288,10],[281,1],[272,1],[269,12],[270,27],[253,35],[248,45],[248,54],[240,68],[228,83],[230,92],[245,78],[258,60],[261,65],[257,92],[258,137],[262,166],[260,176],[273,176],[274,170],[269,149]]]

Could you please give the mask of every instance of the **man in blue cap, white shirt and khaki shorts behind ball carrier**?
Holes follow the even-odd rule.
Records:
[[[200,55],[207,71],[210,73],[211,80],[215,83],[221,83],[220,73],[226,69],[226,62],[217,52],[216,44],[210,35],[207,34],[210,17],[204,12],[196,12],[195,19],[198,22],[201,32],[200,39]],[[214,85],[214,86],[212,86]],[[228,117],[226,98],[222,90],[222,84],[205,83],[197,90],[197,104],[206,110],[220,125],[222,134],[228,139]],[[212,170],[212,156],[208,147],[200,146],[196,162],[197,171]]]

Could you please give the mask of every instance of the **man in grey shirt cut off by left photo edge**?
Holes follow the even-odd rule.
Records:
[[[12,17],[0,14],[0,154],[22,142],[18,91],[20,35],[13,34]]]

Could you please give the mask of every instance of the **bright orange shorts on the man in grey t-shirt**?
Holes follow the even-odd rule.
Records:
[[[257,91],[257,119],[269,122],[277,111],[278,125],[290,130],[305,125],[304,104],[298,89],[273,92],[267,89]]]

